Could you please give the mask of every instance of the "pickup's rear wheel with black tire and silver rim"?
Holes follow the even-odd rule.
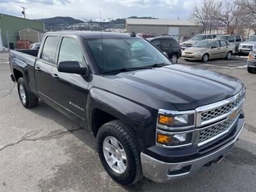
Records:
[[[25,108],[35,108],[38,105],[38,97],[29,92],[26,83],[22,77],[17,81],[17,88],[20,102]]]

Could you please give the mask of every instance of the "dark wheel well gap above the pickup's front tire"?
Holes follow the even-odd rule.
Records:
[[[94,136],[97,136],[97,132],[99,131],[100,127],[108,122],[116,120],[117,118],[101,109],[93,109],[92,114],[92,130]]]

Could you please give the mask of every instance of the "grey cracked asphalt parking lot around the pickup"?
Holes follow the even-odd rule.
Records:
[[[43,102],[20,104],[10,80],[8,53],[0,53],[0,191],[256,191],[256,74],[246,58],[207,63],[179,60],[242,79],[246,124],[220,164],[169,184],[142,179],[134,186],[114,182],[100,164],[93,135]]]

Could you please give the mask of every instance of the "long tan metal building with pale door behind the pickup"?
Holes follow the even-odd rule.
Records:
[[[191,20],[171,19],[126,19],[126,31],[131,33],[148,33],[154,36],[170,35],[177,40],[182,36],[200,33],[200,26]]]

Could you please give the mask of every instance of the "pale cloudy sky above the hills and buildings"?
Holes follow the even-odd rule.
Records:
[[[0,13],[22,17],[20,6],[26,8],[26,18],[43,19],[56,16],[75,19],[156,17],[159,19],[189,19],[189,12],[201,0],[0,0]]]

